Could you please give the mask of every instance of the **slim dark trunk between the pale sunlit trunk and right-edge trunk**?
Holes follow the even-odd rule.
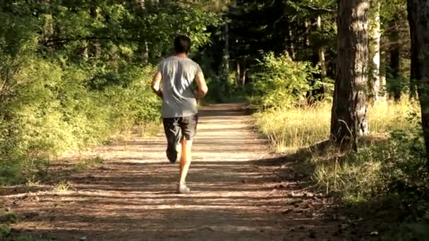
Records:
[[[392,42],[389,48],[389,73],[391,78],[389,95],[391,98],[393,97],[394,101],[401,100],[402,94],[402,83],[401,79],[399,78],[399,71],[401,68],[401,44],[399,44],[400,37],[397,30],[397,19],[398,18],[395,18],[389,23],[389,28],[392,30],[391,34],[389,35],[389,40]]]

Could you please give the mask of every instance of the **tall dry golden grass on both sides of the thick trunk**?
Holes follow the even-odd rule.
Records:
[[[330,135],[331,104],[295,109],[276,109],[256,113],[260,131],[272,141],[277,152],[292,153]],[[368,108],[371,135],[386,135],[392,130],[409,128],[407,117],[417,113],[410,101],[380,101]]]

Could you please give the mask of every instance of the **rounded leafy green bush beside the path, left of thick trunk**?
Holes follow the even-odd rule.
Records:
[[[317,69],[310,63],[292,61],[287,54],[265,54],[250,74],[253,95],[262,106],[292,106],[306,101],[313,89],[310,80]],[[315,80],[318,82],[318,80]]]

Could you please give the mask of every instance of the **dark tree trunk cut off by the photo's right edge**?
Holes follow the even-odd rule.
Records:
[[[411,46],[416,49],[411,54],[415,63],[418,99],[421,105],[421,120],[425,138],[426,167],[429,171],[429,3],[428,0],[408,0],[408,11],[411,13],[409,25]]]

